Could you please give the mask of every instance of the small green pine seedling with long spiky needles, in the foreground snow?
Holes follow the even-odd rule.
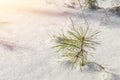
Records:
[[[60,56],[72,62],[72,67],[82,67],[89,63],[87,57],[90,50],[95,50],[95,46],[100,44],[96,39],[99,31],[94,31],[90,25],[80,25],[72,28],[67,33],[54,35],[55,46]]]

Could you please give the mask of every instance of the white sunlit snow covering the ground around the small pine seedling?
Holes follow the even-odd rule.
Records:
[[[70,64],[61,62],[51,49],[49,35],[67,30],[69,16],[76,25],[84,22],[80,9],[66,8],[65,2],[69,1],[0,0],[0,80],[111,80],[102,79],[111,78],[110,73],[71,70]],[[100,1],[102,7],[110,6],[110,2]],[[92,27],[101,31],[101,45],[91,60],[118,77],[120,17],[109,14],[110,20],[104,24],[103,10],[84,13]]]

